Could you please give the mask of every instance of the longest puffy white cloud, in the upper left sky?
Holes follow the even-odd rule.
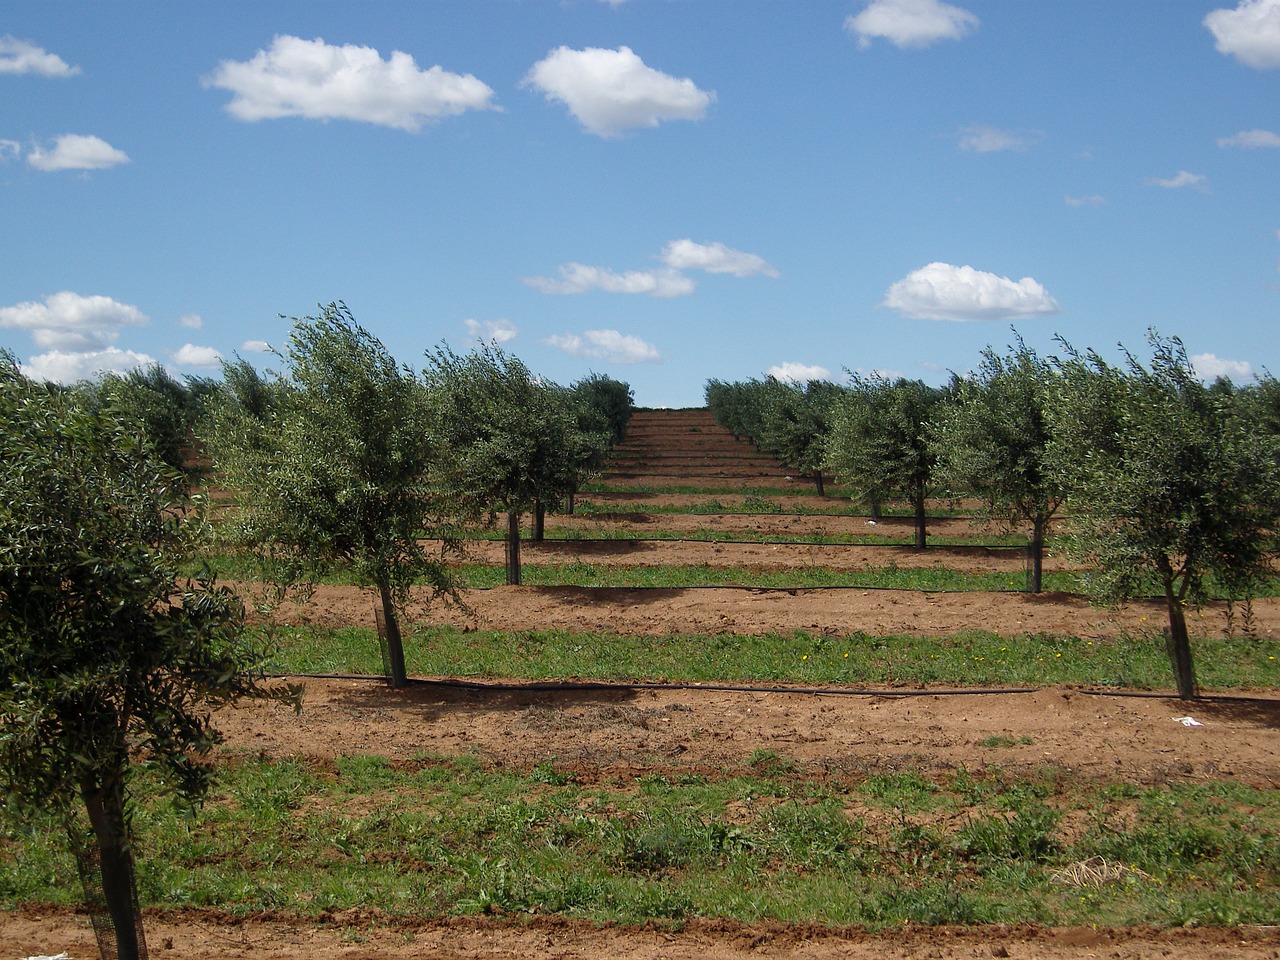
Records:
[[[420,69],[399,50],[278,36],[251,60],[223,60],[206,87],[234,93],[227,111],[238,120],[305,116],[361,120],[415,132],[442,116],[495,109],[493,88],[471,74]]]

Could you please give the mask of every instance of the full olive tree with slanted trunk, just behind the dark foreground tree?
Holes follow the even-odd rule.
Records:
[[[442,532],[452,503],[429,483],[438,451],[425,387],[344,303],[296,317],[282,358],[273,383],[243,361],[224,367],[209,447],[237,497],[228,538],[264,563],[276,598],[335,567],[375,588],[390,682],[404,686],[410,588],[452,595],[443,550],[457,544]]]

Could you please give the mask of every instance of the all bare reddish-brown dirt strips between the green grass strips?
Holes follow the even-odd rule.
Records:
[[[716,456],[733,449],[705,413],[640,415],[632,431],[646,444],[655,472],[673,470],[663,449],[686,461],[696,442],[714,438]],[[741,444],[746,447],[746,444]],[[746,447],[746,449],[750,449]],[[732,466],[717,461],[726,474]],[[755,468],[755,465],[753,465]],[[632,471],[634,472],[634,471]],[[777,470],[777,474],[783,471]],[[643,477],[627,477],[643,485]],[[710,484],[710,480],[699,480]],[[726,483],[723,480],[718,481]],[[776,483],[776,481],[774,481]],[[695,485],[695,484],[691,484]],[[689,503],[691,494],[595,494],[617,506],[600,525],[677,522],[700,529],[760,529],[795,532],[865,527],[863,518],[810,518],[786,515],[653,517],[628,515],[627,504]],[[732,497],[719,497],[732,509]],[[791,503],[820,504],[810,493]],[[579,521],[577,522],[586,522]],[[890,521],[905,525],[906,521]],[[759,526],[756,526],[759,525]],[[966,521],[941,521],[934,532],[968,531]],[[717,549],[719,548],[719,549]],[[480,547],[481,552],[500,545]],[[594,550],[594,552],[593,552]],[[559,553],[558,553],[559,552]],[[861,553],[860,553],[861,552]],[[566,556],[567,554],[567,556]],[[964,570],[1021,573],[1021,558],[1002,554],[897,548],[813,548],[773,544],[557,544],[531,547],[526,559],[580,558],[584,562],[709,563],[804,567],[872,563],[893,556],[900,566],[940,563]],[[643,557],[644,559],[637,559]],[[987,566],[1005,564],[1005,566]],[[823,630],[836,634],[952,634],[968,628],[998,634],[1050,632],[1111,639],[1123,632],[1158,630],[1161,609],[1132,604],[1123,611],[1091,607],[1076,596],[1050,594],[920,594],[899,590],[662,589],[588,590],[575,588],[499,588],[471,591],[475,611],[431,607],[428,620],[481,627],[536,630],[567,627],[621,634],[669,631],[762,634]],[[285,621],[367,623],[372,598],[348,588],[320,588],[310,603],[280,611]],[[1280,603],[1254,605],[1257,628],[1280,630]],[[1193,632],[1225,630],[1220,609],[1194,620]],[[1184,726],[1193,716],[1202,726]],[[303,710],[251,704],[224,710],[219,726],[224,750],[268,756],[330,758],[378,753],[406,758],[422,753],[475,754],[500,765],[532,767],[554,756],[557,769],[584,782],[639,777],[648,772],[723,771],[746,763],[767,748],[815,769],[890,771],[901,767],[946,771],[982,769],[998,763],[1011,771],[1053,767],[1066,776],[1157,783],[1169,780],[1234,780],[1280,787],[1280,699],[1257,692],[1187,705],[1161,696],[1092,695],[1080,690],[1024,694],[963,694],[891,689],[870,694],[787,690],[733,690],[710,685],[653,689],[541,687],[526,681],[451,682],[422,678],[393,691],[375,680],[308,680]],[[983,746],[992,736],[1012,746]],[[1028,742],[1029,741],[1029,742]],[[865,812],[859,812],[865,813]],[[1280,918],[1277,918],[1280,920]],[[877,936],[861,931],[785,924],[692,920],[681,931],[658,927],[598,928],[556,918],[466,918],[402,922],[376,908],[324,918],[289,916],[234,920],[209,911],[152,913],[147,937],[154,957],[173,960],[390,960],[534,957],[576,960],[869,960],[870,957],[1280,957],[1280,929],[1044,929],[902,928]],[[0,913],[0,960],[68,951],[77,960],[96,955],[87,920],[73,911]]]

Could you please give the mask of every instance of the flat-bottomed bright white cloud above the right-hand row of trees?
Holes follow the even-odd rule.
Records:
[[[881,306],[915,320],[1025,320],[1061,312],[1030,276],[1011,280],[941,262],[909,273],[888,288]]]

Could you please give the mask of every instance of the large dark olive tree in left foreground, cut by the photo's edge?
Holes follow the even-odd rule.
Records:
[[[129,826],[140,764],[198,801],[211,710],[283,691],[250,673],[239,600],[178,577],[207,529],[136,424],[32,384],[4,356],[0,424],[0,805],[52,813],[78,859],[97,859],[99,942],[132,960],[145,954]],[[97,881],[84,881],[90,895]]]

